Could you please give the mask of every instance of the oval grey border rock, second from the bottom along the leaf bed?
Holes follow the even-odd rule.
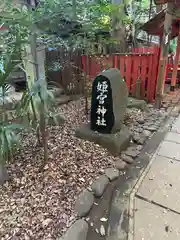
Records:
[[[84,217],[90,211],[93,203],[94,196],[92,192],[85,189],[82,193],[80,193],[75,204],[75,211],[78,217]]]

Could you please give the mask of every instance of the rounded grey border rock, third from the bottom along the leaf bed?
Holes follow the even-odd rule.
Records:
[[[96,197],[101,197],[103,195],[104,190],[106,189],[109,183],[109,179],[102,175],[91,185],[91,189],[94,192]]]

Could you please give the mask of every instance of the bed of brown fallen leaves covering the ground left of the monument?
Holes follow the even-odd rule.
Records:
[[[0,239],[56,239],[76,218],[77,195],[112,157],[98,145],[77,139],[74,130],[86,122],[84,101],[62,106],[67,123],[48,129],[49,161],[41,169],[43,152],[34,134],[23,134],[23,149],[9,164],[11,181],[0,187]]]

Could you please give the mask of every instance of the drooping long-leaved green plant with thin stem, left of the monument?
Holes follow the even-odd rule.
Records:
[[[44,148],[44,162],[48,160],[46,127],[49,119],[58,124],[59,115],[55,114],[55,97],[48,90],[45,79],[38,79],[31,88],[28,88],[17,107],[20,115],[29,125],[36,129],[38,143]]]

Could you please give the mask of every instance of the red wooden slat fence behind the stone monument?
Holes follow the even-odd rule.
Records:
[[[137,80],[139,80],[141,99],[153,102],[156,92],[159,49],[156,48],[153,51],[153,53],[115,54],[101,58],[82,56],[83,71],[88,71],[87,74],[95,78],[102,70],[111,67],[118,68],[126,81],[130,95],[136,95]]]

